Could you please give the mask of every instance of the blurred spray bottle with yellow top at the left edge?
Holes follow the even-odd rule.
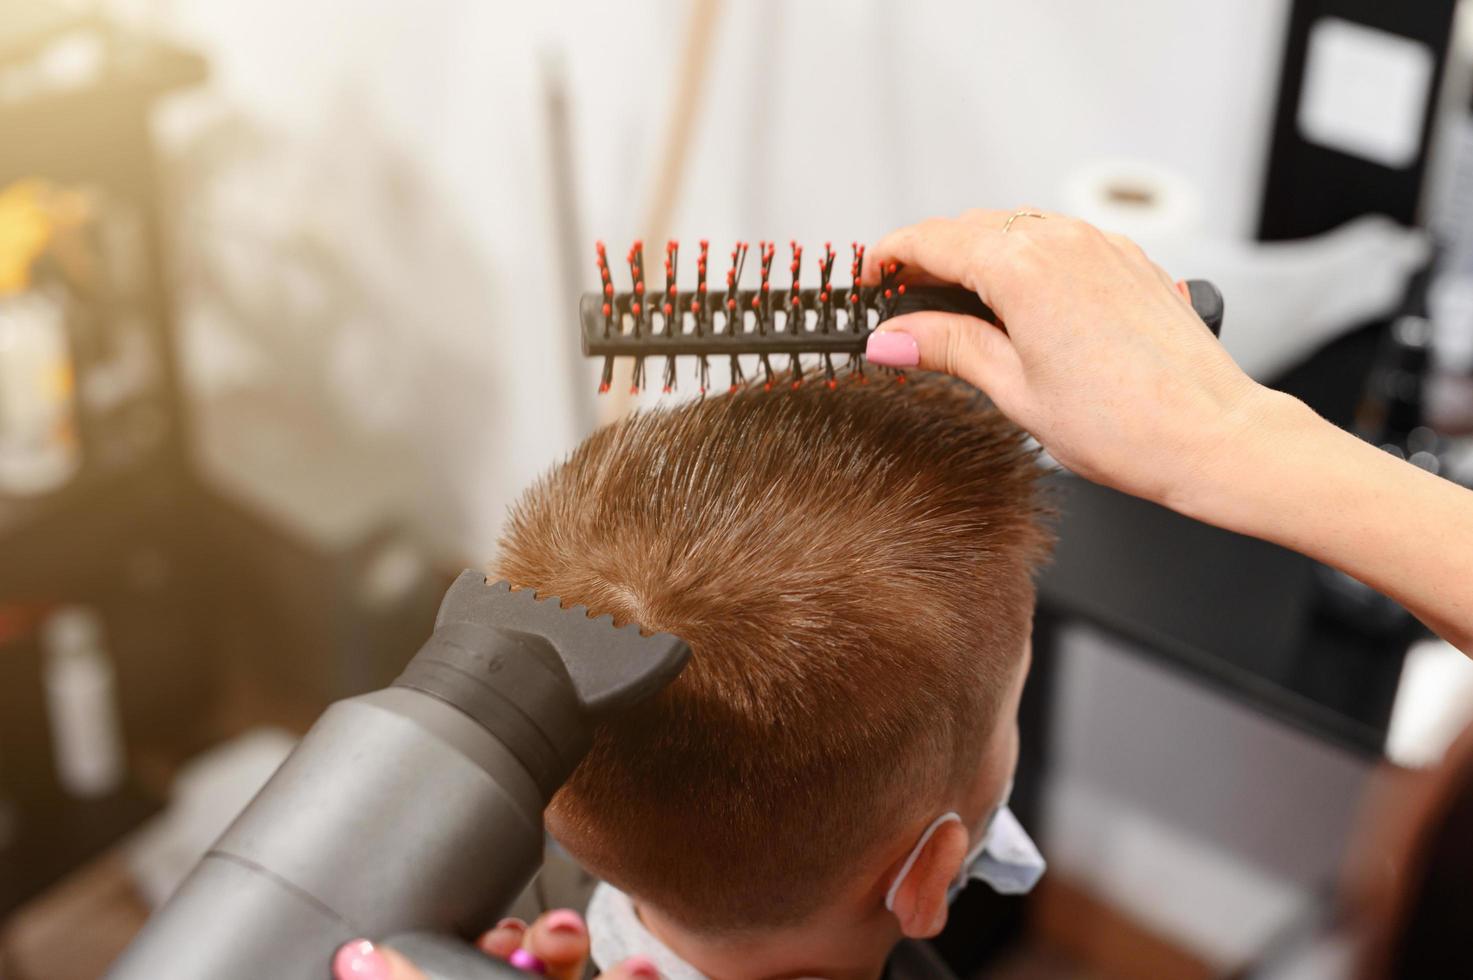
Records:
[[[32,271],[56,230],[49,190],[0,192],[0,494],[50,492],[81,466],[66,309]]]

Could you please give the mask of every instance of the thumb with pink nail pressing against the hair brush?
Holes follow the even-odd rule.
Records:
[[[884,367],[944,371],[981,388],[993,401],[1022,377],[1012,340],[999,327],[959,312],[909,312],[869,335],[865,357]]]

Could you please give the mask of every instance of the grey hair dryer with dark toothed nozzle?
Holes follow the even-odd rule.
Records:
[[[113,980],[323,980],[386,942],[430,977],[524,976],[460,937],[542,861],[542,811],[592,728],[669,684],[689,648],[463,572],[387,688],[331,704]]]

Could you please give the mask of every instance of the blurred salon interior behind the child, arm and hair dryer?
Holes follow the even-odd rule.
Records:
[[[1214,280],[1255,377],[1473,480],[1470,66],[1454,0],[0,0],[0,977],[99,976],[520,488],[658,402],[579,357],[595,239],[1075,212]],[[941,949],[1258,976],[1469,663],[1053,480],[1013,806],[1050,872]]]

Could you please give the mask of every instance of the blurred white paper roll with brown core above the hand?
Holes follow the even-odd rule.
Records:
[[[1064,184],[1064,209],[1142,243],[1202,233],[1196,186],[1145,162],[1099,161],[1075,171]]]

